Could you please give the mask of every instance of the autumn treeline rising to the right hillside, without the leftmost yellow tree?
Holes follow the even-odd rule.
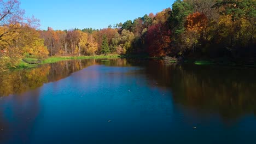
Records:
[[[184,0],[160,13],[95,30],[39,31],[50,56],[102,52],[152,57],[255,57],[255,1]],[[84,35],[84,36],[83,36]],[[95,44],[94,44],[95,43]],[[95,47],[92,49],[91,45]]]

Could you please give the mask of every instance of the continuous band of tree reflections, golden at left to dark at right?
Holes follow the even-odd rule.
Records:
[[[256,115],[255,69],[165,65],[162,61],[143,59],[63,61],[2,74],[0,96],[24,93],[41,87],[44,83],[68,77],[75,71],[99,64],[111,67],[143,67],[143,73],[152,81],[148,85],[171,88],[176,104],[197,111],[217,112],[228,119],[248,113]]]

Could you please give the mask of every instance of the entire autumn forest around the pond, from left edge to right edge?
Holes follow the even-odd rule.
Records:
[[[38,29],[18,0],[0,0],[0,71],[22,58],[147,55],[255,64],[255,0],[177,0],[104,29]]]

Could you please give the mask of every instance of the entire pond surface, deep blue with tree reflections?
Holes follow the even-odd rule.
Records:
[[[0,76],[0,143],[256,143],[256,70],[111,59]]]

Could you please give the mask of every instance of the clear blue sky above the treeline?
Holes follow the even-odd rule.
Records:
[[[174,0],[20,0],[26,16],[40,20],[40,29],[106,28],[114,23],[125,22],[157,13],[171,7]]]

